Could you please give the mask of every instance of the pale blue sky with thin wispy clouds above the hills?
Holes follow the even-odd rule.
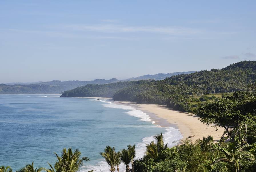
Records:
[[[256,1],[0,1],[0,83],[126,79],[256,60]]]

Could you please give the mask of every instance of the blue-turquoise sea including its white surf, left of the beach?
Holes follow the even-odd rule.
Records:
[[[145,144],[161,132],[169,146],[182,138],[175,128],[153,125],[146,113],[104,99],[0,94],[0,165],[15,171],[32,161],[48,168],[47,162],[56,160],[53,152],[61,155],[64,147],[91,159],[81,171],[108,171],[99,155],[105,146],[118,151],[135,144],[140,158]]]

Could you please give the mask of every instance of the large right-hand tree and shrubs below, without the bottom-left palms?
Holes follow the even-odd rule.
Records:
[[[253,172],[256,171],[256,96],[235,92],[200,105],[193,111],[201,122],[225,128],[222,139],[203,137],[168,148],[163,136],[147,145],[146,155],[135,160],[135,172]]]

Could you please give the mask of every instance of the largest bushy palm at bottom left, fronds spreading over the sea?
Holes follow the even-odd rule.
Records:
[[[76,172],[79,167],[83,165],[83,161],[90,161],[88,157],[81,157],[81,152],[79,149],[75,149],[72,152],[72,148],[64,148],[61,153],[61,157],[57,155],[56,152],[54,154],[57,156],[57,161],[55,161],[54,168],[49,164],[51,169],[47,169],[46,172]]]

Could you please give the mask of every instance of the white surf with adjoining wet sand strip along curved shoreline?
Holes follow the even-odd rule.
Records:
[[[77,97],[76,97],[77,98]],[[142,121],[151,122],[155,127],[164,128],[163,132],[164,141],[168,143],[168,147],[173,147],[178,145],[183,138],[183,135],[179,131],[177,125],[168,123],[167,120],[157,117],[155,114],[141,110],[138,106],[134,105],[133,102],[119,102],[113,101],[111,98],[103,98],[103,97],[79,97],[79,98],[89,98],[91,101],[102,101],[107,104],[103,104],[103,106],[108,108],[116,108],[116,109],[125,109],[128,110],[126,113],[131,116],[135,116]],[[99,100],[97,100],[99,99]],[[154,136],[141,138],[141,142],[135,143],[136,145],[136,157],[137,159],[141,159],[146,152],[146,144],[154,141]],[[105,161],[100,161],[95,165],[86,165],[85,169],[82,169],[81,172],[85,172],[88,170],[105,171],[105,168],[108,168],[108,165]],[[119,166],[120,171],[125,171],[125,166],[121,164]]]

